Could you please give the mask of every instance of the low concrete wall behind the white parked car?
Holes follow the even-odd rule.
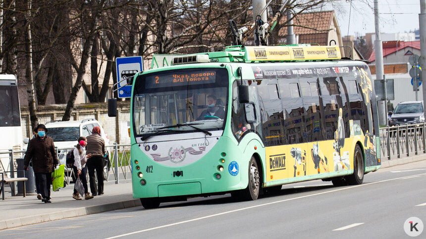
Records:
[[[66,105],[37,106],[39,123],[61,120]],[[75,106],[71,120],[94,118],[100,122],[110,143],[130,144],[127,124],[130,121],[130,101],[117,102],[117,117],[108,117],[107,103],[78,104]],[[21,106],[22,136],[32,137],[28,106]]]

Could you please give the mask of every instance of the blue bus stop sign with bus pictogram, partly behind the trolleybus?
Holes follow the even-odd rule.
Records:
[[[115,58],[117,69],[118,98],[129,98],[132,86],[126,85],[127,79],[132,78],[137,72],[144,70],[142,56],[128,56]],[[120,82],[121,81],[121,82]]]

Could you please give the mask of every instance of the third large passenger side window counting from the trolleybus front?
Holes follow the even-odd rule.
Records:
[[[320,106],[320,93],[315,78],[299,79],[305,110],[306,140],[319,141],[324,139],[323,112]]]

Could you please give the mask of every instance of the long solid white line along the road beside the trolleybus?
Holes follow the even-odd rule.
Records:
[[[426,173],[422,173],[422,174],[418,174],[418,175],[426,175]],[[416,176],[416,175],[413,175],[413,176]],[[384,182],[388,182],[388,181],[398,180],[398,179],[401,179],[401,178],[405,178],[405,177],[391,178],[391,179],[386,179],[386,180],[377,181],[377,182],[373,182],[373,183],[360,184],[360,185],[355,185],[355,186],[351,186],[351,187],[347,187],[347,188],[339,188],[339,189],[335,189],[335,190],[331,190],[331,191],[327,191],[327,192],[305,195],[305,196],[300,196],[300,197],[291,198],[291,199],[283,199],[283,200],[278,200],[278,201],[267,202],[267,203],[264,203],[264,204],[243,207],[243,208],[239,208],[239,209],[235,209],[235,210],[230,210],[230,211],[220,212],[220,213],[216,213],[216,214],[212,214],[212,215],[207,215],[207,216],[204,216],[204,217],[198,217],[198,218],[194,218],[194,219],[190,219],[190,220],[170,223],[170,224],[166,224],[166,225],[162,225],[162,226],[158,226],[158,227],[147,228],[147,229],[144,229],[144,230],[135,231],[135,232],[126,233],[126,234],[121,234],[121,235],[109,237],[109,238],[106,238],[106,239],[126,237],[126,236],[130,236],[130,235],[138,234],[138,233],[143,233],[143,232],[157,230],[157,229],[160,229],[160,228],[171,227],[171,226],[176,226],[176,225],[179,225],[179,224],[199,221],[199,220],[203,220],[203,219],[206,219],[206,218],[221,216],[221,215],[225,215],[225,214],[229,214],[229,213],[233,213],[233,212],[243,211],[243,210],[257,208],[257,207],[271,205],[271,204],[276,204],[276,203],[280,203],[280,202],[284,202],[284,201],[304,199],[304,198],[309,198],[309,197],[318,196],[318,195],[322,195],[322,194],[328,194],[328,193],[334,193],[334,192],[338,192],[338,191],[342,191],[342,190],[347,190],[347,189],[351,189],[351,188],[357,188],[357,187],[362,187],[362,186],[367,186],[367,185],[372,185],[372,184],[377,184],[377,183],[384,183]]]

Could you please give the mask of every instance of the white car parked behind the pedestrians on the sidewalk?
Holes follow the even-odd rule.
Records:
[[[104,131],[104,128],[95,119],[86,119],[86,120],[75,120],[75,121],[60,121],[53,120],[49,121],[46,124],[48,130],[48,135],[52,137],[55,147],[58,149],[69,148],[65,150],[58,151],[58,159],[60,164],[65,164],[66,154],[72,150],[77,145],[77,139],[80,136],[87,137],[92,134],[92,129],[95,126],[101,128],[101,137],[105,140],[105,145],[109,144],[109,139]],[[110,155],[110,152],[107,151],[107,154]],[[104,165],[104,178],[109,173],[109,162]],[[65,168],[65,175],[71,175],[72,168]],[[72,175],[74,181],[75,177]]]

